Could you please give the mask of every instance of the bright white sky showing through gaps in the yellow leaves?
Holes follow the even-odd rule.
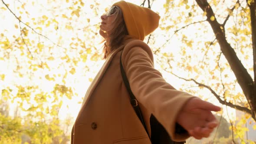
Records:
[[[7,0],[5,0],[7,2]],[[105,0],[104,1],[104,4],[102,3],[102,5],[99,6],[99,9],[102,10],[102,13],[104,13],[105,11],[105,8],[108,7],[108,6],[111,6],[112,3],[116,2],[118,0]],[[142,0],[127,0],[128,2],[131,2],[131,3],[135,3],[135,4],[138,4],[140,5]],[[94,25],[94,24],[97,24],[97,23],[100,23],[100,18],[99,17],[95,17],[95,15],[86,15],[86,13],[92,13],[92,9],[90,9],[90,3],[92,3],[93,0],[86,0],[85,2],[85,9],[83,9],[82,13],[80,14],[80,18],[79,20],[85,20],[86,19],[90,19],[90,22],[87,23],[87,24],[91,24],[91,25]],[[8,0],[8,3],[18,3],[17,1],[13,2],[9,2]],[[38,5],[36,6],[39,6],[39,4],[43,4],[43,5],[47,5],[47,1],[46,0],[36,0],[36,3]],[[163,9],[163,4],[165,3],[164,0],[159,0],[158,3],[153,3],[153,7],[151,8],[152,10],[154,11],[157,11],[160,15],[162,15],[164,13],[164,9]],[[3,4],[0,3],[0,7],[2,7]],[[51,15],[51,11],[49,10],[43,10],[42,7],[36,7],[36,6],[30,6],[29,9],[27,11],[33,11],[33,13],[30,13],[31,14],[31,17],[38,17],[40,15]],[[147,6],[147,3],[146,3],[146,6]],[[60,5],[60,7],[66,7],[66,3],[63,3]],[[13,5],[11,5],[10,7],[13,12],[17,12],[14,8],[13,8]],[[47,7],[46,7],[47,8]],[[173,13],[173,16],[175,15],[175,13]],[[19,29],[13,29],[14,28],[14,24],[17,23],[17,20],[15,18],[13,18],[12,14],[9,12],[9,11],[5,11],[5,13],[1,13],[0,14],[0,18],[2,20],[4,20],[3,22],[0,23],[0,33],[5,33],[8,37],[12,37],[13,33],[19,33]],[[29,19],[23,19],[25,21],[30,21]],[[81,22],[81,24],[84,24]],[[3,31],[3,29],[9,29],[9,31]],[[95,31],[96,31],[96,28],[95,28]],[[209,29],[208,31],[209,33],[212,33],[212,30]],[[159,31],[159,29],[157,29],[155,31],[155,33],[160,36],[161,33]],[[193,28],[191,29],[188,29],[186,31],[187,35],[188,36],[193,36],[193,33],[194,33],[194,30]],[[83,32],[81,31],[80,33],[81,36],[83,35]],[[206,34],[207,35],[207,34]],[[70,36],[72,36],[72,33],[64,33],[62,34],[63,36],[63,39],[69,39]],[[58,39],[57,36],[55,36],[54,34],[53,35],[49,35],[48,36],[49,39],[53,40],[54,42],[56,41],[56,39]],[[34,38],[34,39],[37,39]],[[97,49],[101,49],[101,45],[99,45],[98,43],[101,41],[101,37],[100,36],[96,36],[95,38],[95,43],[96,43],[96,47]],[[163,52],[173,52],[173,54],[175,55],[176,53],[179,53],[179,49],[176,49],[178,48],[179,46],[181,46],[181,43],[179,43],[178,40],[176,40],[177,37],[174,36],[173,39],[171,40],[172,42],[166,46],[166,49],[162,49]],[[207,37],[206,37],[207,39]],[[208,39],[212,40],[212,38],[208,37]],[[159,45],[161,46],[161,43],[165,43],[165,41],[163,41],[162,37],[158,37],[156,38],[157,41],[159,41]],[[65,41],[63,41],[63,46],[65,46]],[[171,49],[170,49],[171,48]],[[191,49],[190,49],[191,50]],[[188,50],[189,52],[189,50]],[[56,53],[58,53],[58,49],[56,49]],[[0,52],[0,55],[1,55],[1,52]],[[72,54],[71,54],[72,55]],[[100,69],[101,65],[103,64],[104,61],[98,61],[98,62],[90,62],[88,61],[87,62],[87,65],[89,66],[90,69],[92,69],[89,73],[84,73],[84,68],[82,67],[84,64],[80,64],[76,67],[76,73],[75,75],[68,75],[68,81],[66,82],[66,86],[72,86],[72,87],[75,87],[76,88],[76,92],[78,93],[78,96],[75,96],[74,98],[72,98],[72,100],[69,100],[67,98],[64,98],[63,99],[63,106],[62,106],[62,109],[61,111],[59,112],[59,117],[64,119],[66,118],[67,115],[72,115],[72,117],[76,117],[76,115],[78,114],[79,112],[79,109],[80,109],[80,106],[81,104],[78,104],[79,101],[82,101],[82,98],[84,97],[85,95],[85,92],[87,90],[87,88],[89,87],[89,78],[94,78],[95,75],[97,74],[98,70]],[[194,65],[196,65],[197,63],[194,63]],[[11,70],[11,67],[12,65],[10,65],[10,63],[7,63],[7,62],[3,62],[3,61],[0,61],[0,65],[2,68],[7,68],[7,69],[3,69],[2,73],[5,73],[7,75],[6,79],[9,79],[10,83],[11,82],[26,82],[26,78],[20,78],[20,79],[13,79],[14,77],[12,77],[12,75],[10,75],[11,73],[13,73]],[[56,63],[52,63],[50,65],[56,65]],[[160,65],[158,65],[157,62],[155,62],[155,67],[156,69],[161,69]],[[9,69],[10,68],[10,69]],[[59,73],[64,72],[64,67],[59,69]],[[55,71],[53,71],[54,73]],[[178,71],[179,72],[179,75],[183,76],[185,75],[186,72],[182,72],[182,71]],[[167,80],[167,82],[171,83],[171,85],[174,85],[175,88],[180,88],[180,85],[182,83],[184,83],[184,81],[180,80],[180,79],[177,79],[175,76],[173,75],[170,75],[168,74],[167,72],[162,72],[163,73],[163,76],[164,78]],[[38,75],[40,75],[40,73],[38,73]],[[35,81],[39,81],[35,79]],[[61,81],[61,79],[59,79],[59,81]],[[42,81],[41,81],[42,82]],[[6,85],[6,84],[1,84],[0,83],[0,87],[3,86],[3,85]],[[40,84],[42,87],[43,90],[45,91],[49,91],[49,87],[52,87],[54,84],[50,84],[48,82],[42,82]],[[206,97],[209,97],[208,95],[211,95],[211,93],[208,91],[208,90],[203,90],[203,91],[200,91],[199,95],[206,95]],[[214,104],[216,105],[220,105],[215,98],[210,98],[209,101],[213,102]],[[67,108],[67,105],[69,108]],[[13,105],[13,108],[14,108],[15,105]],[[228,108],[228,111],[230,111],[231,115],[232,112],[234,112],[233,109],[231,108]],[[11,111],[12,112],[12,111]],[[224,115],[226,115],[226,110],[224,110]],[[231,116],[230,115],[230,116]]]

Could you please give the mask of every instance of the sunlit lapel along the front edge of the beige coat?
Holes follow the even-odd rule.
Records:
[[[85,105],[87,104],[89,98],[91,97],[92,95],[92,92],[94,91],[94,89],[96,88],[96,86],[98,85],[98,82],[100,81],[100,79],[102,78],[102,76],[104,75],[105,71],[108,69],[108,65],[110,64],[111,60],[113,59],[113,57],[115,56],[115,54],[117,52],[119,52],[124,46],[120,46],[118,49],[115,49],[109,56],[108,58],[106,59],[105,63],[102,65],[102,68],[100,69],[100,71],[98,72],[98,74],[95,76],[95,78],[93,79],[91,85],[89,86],[86,94],[85,94],[85,97],[83,99],[83,102],[82,102],[82,107],[79,111],[79,114],[78,114],[78,117],[79,115],[81,115],[81,110],[83,108],[85,108]]]

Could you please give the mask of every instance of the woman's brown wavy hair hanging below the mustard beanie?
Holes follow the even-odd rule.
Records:
[[[111,23],[113,26],[111,29],[112,33],[107,33],[107,38],[102,41],[102,43],[105,42],[103,47],[103,59],[106,59],[110,52],[112,52],[114,49],[117,49],[118,46],[120,46],[123,42],[124,37],[128,35],[121,9],[117,6],[113,6],[111,11],[107,13],[107,15],[109,14],[115,14],[115,19]]]

